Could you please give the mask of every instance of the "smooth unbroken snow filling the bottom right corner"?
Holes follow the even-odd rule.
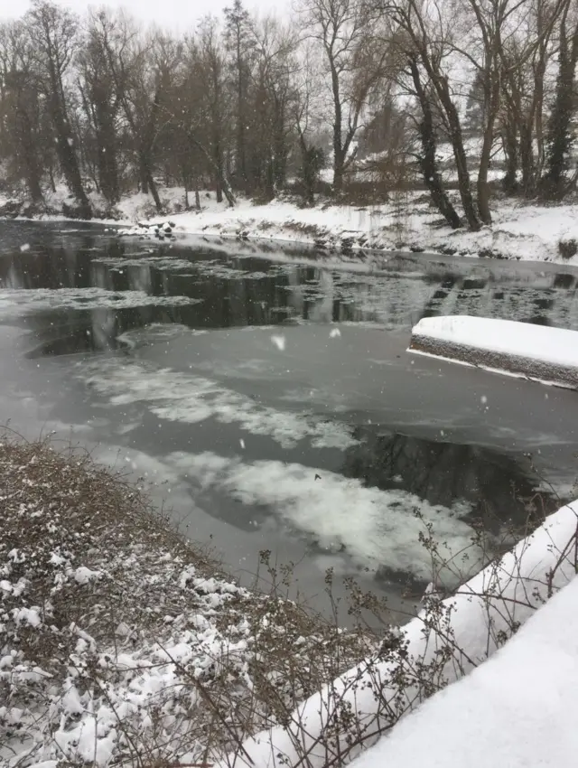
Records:
[[[578,754],[578,579],[492,659],[435,694],[355,768],[559,768]]]

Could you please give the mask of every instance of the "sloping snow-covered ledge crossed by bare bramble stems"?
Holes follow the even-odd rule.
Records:
[[[390,634],[375,656],[297,707],[286,726],[248,739],[223,765],[322,768],[356,757],[428,695],[488,659],[572,581],[577,525],[575,501],[451,598],[426,597],[424,612]]]

